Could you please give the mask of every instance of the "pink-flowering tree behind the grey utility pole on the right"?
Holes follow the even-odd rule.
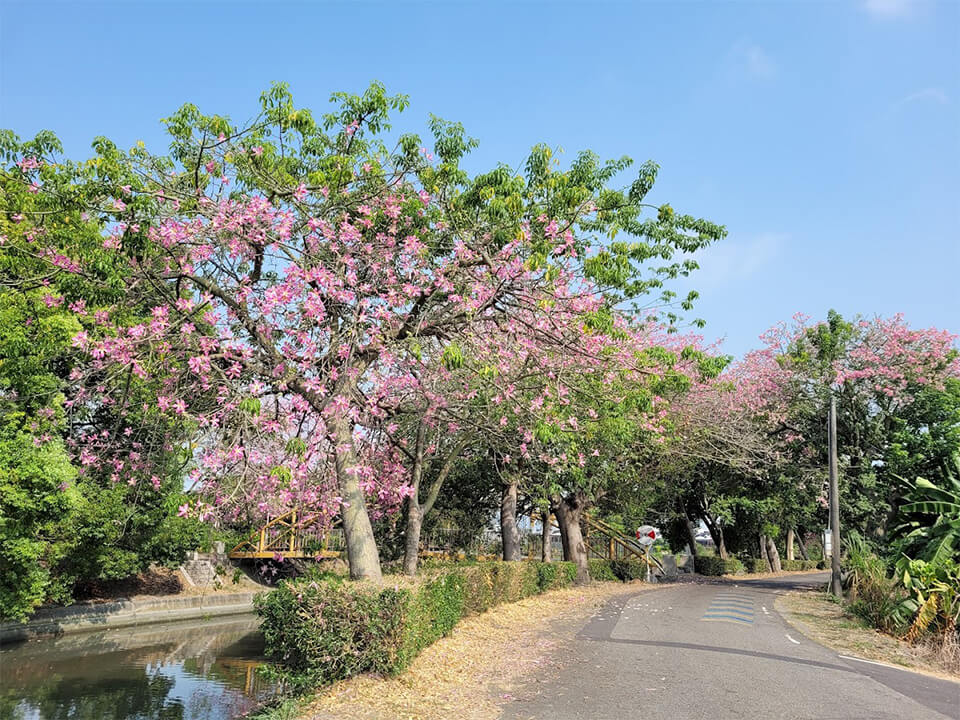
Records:
[[[831,311],[816,324],[796,316],[792,325],[768,331],[765,347],[735,367],[738,402],[775,443],[780,467],[805,502],[825,504],[825,418],[834,394],[844,519],[883,532],[896,499],[895,488],[878,475],[891,432],[927,389],[958,377],[955,339],[943,330],[911,328],[900,315],[847,322]]]

